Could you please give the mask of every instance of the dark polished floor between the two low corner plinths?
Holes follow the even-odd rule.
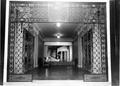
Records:
[[[52,66],[36,68],[32,71],[33,80],[83,80],[85,70],[72,66]]]

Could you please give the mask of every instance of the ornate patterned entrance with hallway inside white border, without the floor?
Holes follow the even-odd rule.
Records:
[[[108,81],[106,3],[11,1],[9,8],[7,81],[32,81],[32,69],[63,64],[87,71],[84,81]]]

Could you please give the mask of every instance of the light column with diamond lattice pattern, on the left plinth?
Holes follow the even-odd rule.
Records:
[[[15,48],[14,48],[14,73],[24,73],[23,68],[23,28],[21,23],[16,23]]]

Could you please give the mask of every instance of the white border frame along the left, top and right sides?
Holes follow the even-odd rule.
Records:
[[[9,3],[15,0],[6,0],[6,22],[5,22],[5,50],[4,50],[4,75],[3,84],[7,82],[7,57],[8,57],[8,32],[9,32]],[[16,1],[36,1],[36,0],[16,0]],[[107,16],[107,56],[108,56],[108,82],[111,83],[111,46],[110,46],[110,0],[39,0],[39,1],[59,1],[59,2],[106,2]],[[98,82],[97,82],[98,83]]]

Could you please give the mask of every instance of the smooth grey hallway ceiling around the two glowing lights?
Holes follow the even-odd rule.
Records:
[[[56,38],[55,34],[62,34],[61,38],[73,38],[75,29],[79,24],[77,23],[60,23],[57,27],[56,23],[35,23],[40,32],[45,38]]]

